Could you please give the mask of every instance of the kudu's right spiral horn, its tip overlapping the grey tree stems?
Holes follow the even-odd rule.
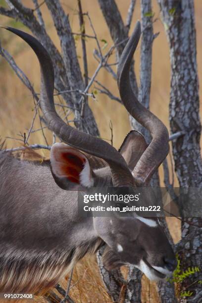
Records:
[[[150,145],[142,154],[133,171],[135,182],[139,186],[146,184],[150,180],[154,171],[169,152],[167,128],[152,112],[138,101],[131,88],[129,68],[140,36],[141,25],[140,22],[137,22],[135,30],[123,50],[117,72],[118,87],[123,104],[128,112],[140,124],[146,127],[152,135]]]

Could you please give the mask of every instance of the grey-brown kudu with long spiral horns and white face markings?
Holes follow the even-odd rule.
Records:
[[[0,292],[35,292],[54,286],[86,253],[107,244],[109,268],[134,264],[151,280],[170,275],[175,255],[156,218],[82,217],[78,187],[137,187],[148,184],[168,153],[163,123],[134,95],[129,67],[138,45],[138,22],[118,65],[118,87],[128,112],[152,134],[131,131],[119,152],[103,140],[66,125],[53,101],[51,58],[32,36],[6,27],[36,53],[41,66],[41,108],[64,145],[50,151],[50,165],[20,161],[0,152]]]

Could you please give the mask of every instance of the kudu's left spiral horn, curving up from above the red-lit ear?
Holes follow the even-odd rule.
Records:
[[[83,133],[67,125],[56,113],[53,100],[54,70],[47,50],[37,39],[29,34],[11,27],[3,28],[27,42],[39,59],[41,67],[40,103],[49,129],[64,143],[105,160],[110,166],[114,187],[133,186],[133,176],[124,158],[115,148],[100,138]]]

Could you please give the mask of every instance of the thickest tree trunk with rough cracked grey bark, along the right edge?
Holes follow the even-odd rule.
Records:
[[[201,123],[199,117],[199,81],[196,57],[196,30],[193,0],[158,0],[170,46],[171,132],[184,131],[185,135],[172,141],[175,170],[181,190],[188,194],[184,203],[179,202],[182,216],[182,237],[195,235],[202,226],[202,217],[186,218],[186,207],[196,203],[196,196],[189,194],[193,188],[202,188],[202,158],[200,150]],[[188,190],[189,189],[189,190]],[[191,191],[190,191],[191,190]],[[196,191],[195,191],[196,192]],[[191,205],[192,203],[192,205]],[[193,225],[194,224],[194,225]],[[183,270],[188,267],[202,268],[202,234],[184,241],[179,252]],[[202,280],[202,271],[190,275],[181,284],[181,291],[192,291],[190,302],[200,292],[197,281]],[[194,284],[192,284],[194,283]],[[192,284],[192,285],[191,285]],[[188,299],[186,301],[189,302]],[[194,300],[194,301],[193,301]],[[199,302],[199,301],[198,301]]]

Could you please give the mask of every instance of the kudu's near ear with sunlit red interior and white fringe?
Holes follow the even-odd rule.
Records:
[[[94,185],[93,171],[83,152],[62,143],[50,150],[50,166],[57,185],[65,190],[78,190],[79,186]]]

